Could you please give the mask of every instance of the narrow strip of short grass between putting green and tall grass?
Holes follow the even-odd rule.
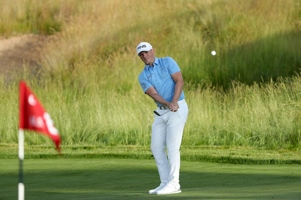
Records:
[[[0,159],[18,159],[18,146],[12,144],[0,145]],[[244,148],[226,146],[182,146],[180,149],[182,161],[201,161],[231,164],[301,164],[300,150],[264,148]],[[25,146],[25,159],[154,159],[148,146],[96,146],[69,145],[62,146],[58,154],[52,146]]]

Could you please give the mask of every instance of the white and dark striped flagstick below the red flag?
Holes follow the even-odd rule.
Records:
[[[24,183],[23,183],[23,160],[24,160],[24,131],[19,129],[19,184],[18,184],[18,200],[24,200]]]

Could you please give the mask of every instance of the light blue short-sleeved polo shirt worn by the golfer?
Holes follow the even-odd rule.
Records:
[[[175,82],[170,76],[178,71],[181,71],[178,64],[171,57],[157,58],[155,57],[154,66],[145,65],[143,71],[138,77],[141,88],[144,93],[151,86],[155,88],[157,93],[166,101],[171,102],[174,97]],[[178,101],[184,99],[184,92],[182,90]],[[159,104],[157,106],[164,106]]]

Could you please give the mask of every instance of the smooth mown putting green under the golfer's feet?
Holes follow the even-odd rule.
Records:
[[[0,199],[17,199],[18,160],[0,162]],[[25,159],[26,199],[300,199],[299,165],[182,161],[182,193],[150,195],[153,159]]]

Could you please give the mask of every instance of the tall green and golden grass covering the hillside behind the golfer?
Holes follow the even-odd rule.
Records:
[[[34,11],[26,18],[29,3]],[[148,41],[157,57],[173,57],[182,69],[189,105],[182,145],[300,148],[297,0],[0,4],[18,9],[19,18],[29,21],[21,29],[21,22],[2,12],[0,27],[12,24],[2,35],[15,29],[52,34],[35,74],[16,73],[14,81],[0,85],[5,116],[0,143],[17,143],[18,81],[24,79],[50,113],[63,144],[150,145],[155,103],[139,85],[144,65],[135,50]],[[35,10],[49,15],[41,20]],[[49,29],[53,32],[32,28],[32,23],[47,27],[50,20],[58,27]],[[38,134],[25,138],[28,144],[51,143]]]

